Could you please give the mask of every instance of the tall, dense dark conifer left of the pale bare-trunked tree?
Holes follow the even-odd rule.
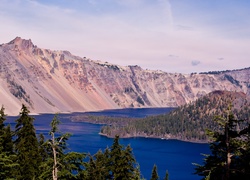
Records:
[[[15,151],[18,168],[17,179],[36,179],[39,173],[41,158],[39,156],[38,140],[33,126],[34,118],[29,116],[29,110],[22,105],[20,117],[15,126]]]

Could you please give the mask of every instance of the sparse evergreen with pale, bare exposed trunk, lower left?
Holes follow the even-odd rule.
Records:
[[[66,141],[70,134],[61,134],[59,132],[60,120],[56,114],[51,121],[51,130],[49,134],[51,139],[42,143],[44,140],[40,139],[40,151],[44,153],[44,162],[40,166],[42,173],[40,179],[83,179],[84,173],[84,153],[68,152]],[[47,155],[46,155],[47,152]]]

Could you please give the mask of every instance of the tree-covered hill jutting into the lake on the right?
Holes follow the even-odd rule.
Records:
[[[143,119],[127,119],[127,121],[123,119],[120,123],[114,118],[113,122],[106,118],[111,125],[103,127],[101,133],[110,137],[119,134],[121,137],[142,136],[206,142],[205,130],[217,128],[217,124],[213,121],[214,117],[225,115],[230,104],[232,104],[236,119],[250,122],[249,96],[245,93],[214,91],[169,114]],[[97,123],[96,118],[95,123]],[[105,122],[102,121],[102,123]]]

